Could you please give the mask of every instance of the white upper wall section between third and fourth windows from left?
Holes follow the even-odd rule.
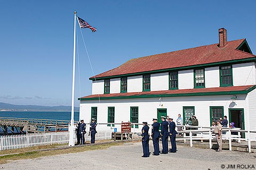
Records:
[[[150,91],[169,90],[169,72],[150,75]]]

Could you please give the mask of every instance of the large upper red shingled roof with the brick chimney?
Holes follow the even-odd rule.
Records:
[[[115,69],[96,75],[95,78],[255,57],[253,54],[236,49],[243,43],[243,41],[245,41],[245,39],[228,41],[227,45],[222,48],[219,48],[218,44],[213,44],[170,53],[134,58]],[[91,77],[90,79],[92,78],[94,77]]]

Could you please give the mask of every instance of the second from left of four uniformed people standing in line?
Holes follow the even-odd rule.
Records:
[[[154,146],[154,152],[152,155],[159,155],[159,126],[160,123],[157,122],[157,118],[153,118],[153,125],[152,125],[152,132],[151,132],[151,137],[153,140],[153,146]]]

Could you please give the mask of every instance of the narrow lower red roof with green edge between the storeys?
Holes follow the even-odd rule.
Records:
[[[180,89],[180,90],[161,90],[161,91],[142,91],[126,92],[119,94],[101,94],[81,97],[80,100],[90,99],[111,99],[111,98],[140,98],[140,97],[176,97],[176,96],[202,96],[202,95],[237,95],[247,94],[255,89],[255,85],[248,86],[230,86],[216,88],[199,88],[199,89]]]

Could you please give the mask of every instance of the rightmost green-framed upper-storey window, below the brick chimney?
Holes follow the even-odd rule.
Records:
[[[232,66],[220,66],[220,86],[233,86]]]

